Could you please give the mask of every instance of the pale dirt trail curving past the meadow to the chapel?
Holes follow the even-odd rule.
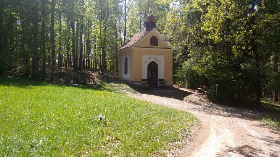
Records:
[[[168,156],[280,156],[280,131],[262,125],[260,113],[211,103],[184,101],[186,89],[174,93],[129,94],[155,104],[193,113],[199,123],[193,140]]]

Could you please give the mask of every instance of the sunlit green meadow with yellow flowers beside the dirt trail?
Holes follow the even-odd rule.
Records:
[[[0,97],[0,156],[152,156],[195,120],[101,85],[0,77]]]

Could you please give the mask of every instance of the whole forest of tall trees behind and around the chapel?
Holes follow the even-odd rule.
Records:
[[[174,83],[220,100],[279,101],[279,0],[0,0],[0,75],[118,71],[149,11],[173,52]]]

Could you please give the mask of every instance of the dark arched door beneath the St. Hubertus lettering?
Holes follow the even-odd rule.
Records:
[[[148,81],[149,81],[149,86],[157,86],[158,66],[156,62],[150,62],[148,64]]]

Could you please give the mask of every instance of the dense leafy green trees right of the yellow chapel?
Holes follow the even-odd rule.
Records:
[[[192,85],[219,84],[219,99],[255,99],[269,85],[279,90],[279,1],[180,2],[164,31],[179,84],[190,87],[190,74],[198,74],[205,79]]]

